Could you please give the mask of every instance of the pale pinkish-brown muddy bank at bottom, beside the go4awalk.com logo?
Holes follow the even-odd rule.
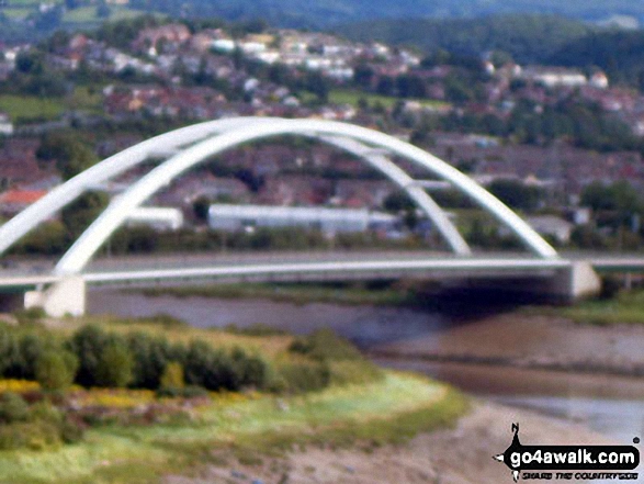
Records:
[[[510,483],[509,470],[492,455],[509,446],[512,421],[520,423],[523,443],[611,443],[606,437],[575,424],[477,401],[456,428],[420,435],[406,444],[369,452],[308,448],[283,458],[265,458],[258,465],[229,460],[226,465],[206,468],[199,477],[169,476],[165,484],[252,480],[289,484]]]

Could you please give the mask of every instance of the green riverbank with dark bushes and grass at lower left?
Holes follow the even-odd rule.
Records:
[[[0,326],[0,483],[151,483],[304,444],[396,442],[467,408],[331,331],[20,316]]]

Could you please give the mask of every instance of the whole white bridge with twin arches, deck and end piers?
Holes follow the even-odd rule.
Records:
[[[149,198],[170,184],[172,180],[188,170],[204,164],[212,157],[228,149],[252,142],[269,139],[278,136],[301,136],[329,144],[348,151],[404,190],[417,204],[426,216],[433,223],[443,237],[447,246],[456,256],[445,260],[372,260],[312,262],[282,264],[255,264],[246,268],[230,266],[228,268],[180,268],[166,271],[88,273],[86,267],[97,251],[121,227],[128,215],[144,204]],[[38,278],[23,277],[21,283],[34,285],[36,291],[25,295],[27,306],[43,306],[52,315],[71,313],[82,314],[84,311],[84,284],[123,281],[158,281],[161,279],[190,279],[200,277],[224,277],[240,274],[248,275],[280,274],[285,277],[305,277],[306,274],[336,274],[347,277],[348,271],[363,273],[405,273],[418,270],[442,271],[476,271],[486,270],[551,270],[561,279],[565,272],[564,291],[577,296],[588,291],[597,290],[597,281],[592,279],[588,268],[578,269],[578,264],[558,257],[539,234],[536,234],[520,216],[512,212],[502,202],[477,184],[474,180],[460,172],[452,166],[436,156],[400,140],[391,135],[340,122],[321,120],[286,120],[275,117],[237,117],[224,119],[176,130],[160,136],[145,140],[127,148],[110,158],[102,160],[88,170],[74,177],[67,182],[52,190],[47,195],[30,205],[15,217],[0,227],[0,257],[21,237],[30,233],[42,222],[54,216],[64,206],[75,201],[82,193],[92,190],[101,183],[155,158],[163,160],[147,175],[129,185],[124,193],[114,199],[103,213],[80,235],[69,250],[58,261],[50,274]],[[492,214],[500,224],[505,225],[531,252],[530,257],[521,259],[482,259],[473,256],[467,243],[456,227],[445,215],[443,210],[425,190],[419,180],[415,180],[405,171],[396,159],[405,159],[416,167],[427,171],[429,176],[440,182],[466,194],[472,201]],[[320,263],[323,266],[320,266]],[[362,263],[362,266],[361,266]],[[393,263],[393,264],[392,264]],[[583,271],[584,277],[575,275]],[[370,272],[371,271],[371,272]],[[383,272],[384,271],[384,272]],[[562,272],[563,271],[563,272]],[[144,273],[145,272],[145,273]],[[590,274],[590,275],[589,275]],[[20,285],[12,278],[1,278],[2,285]],[[556,284],[555,284],[556,285]]]

